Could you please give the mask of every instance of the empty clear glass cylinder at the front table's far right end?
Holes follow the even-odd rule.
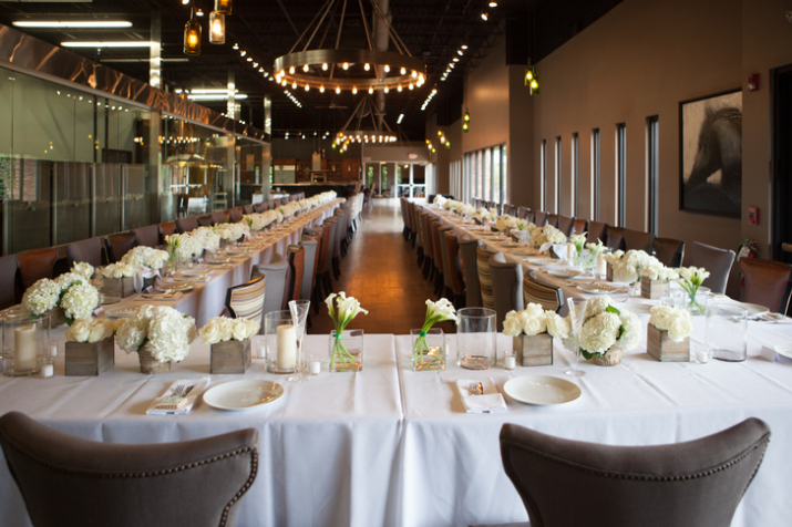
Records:
[[[748,358],[748,310],[713,302],[707,311],[707,348],[712,358],[742,362]]]

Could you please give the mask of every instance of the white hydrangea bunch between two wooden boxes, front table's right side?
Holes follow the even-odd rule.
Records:
[[[586,360],[606,355],[611,348],[629,351],[640,342],[640,320],[630,311],[619,311],[607,297],[597,297],[586,303],[586,314],[580,330],[580,354]],[[574,349],[572,335],[564,345]]]

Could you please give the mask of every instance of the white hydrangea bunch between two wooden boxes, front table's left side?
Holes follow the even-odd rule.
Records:
[[[166,306],[141,306],[121,323],[115,341],[127,354],[146,351],[160,362],[178,362],[189,353],[196,334],[193,317]]]

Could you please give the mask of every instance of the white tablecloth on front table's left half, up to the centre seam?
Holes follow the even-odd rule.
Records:
[[[63,330],[59,330],[61,341]],[[62,348],[61,348],[62,349]],[[306,337],[308,353],[328,355],[327,335]],[[397,525],[395,493],[402,409],[392,335],[366,335],[361,373],[328,373],[294,384],[255,360],[243,375],[213,375],[212,384],[267,379],[286,393],[256,410],[223,412],[205,403],[188,415],[145,415],[151,401],[177,379],[209,372],[208,347],[194,345],[168,373],[140,373],[137,355],[116,350],[115,368],[97,378],[0,376],[0,415],[17,410],[62,432],[111,443],[194,440],[258,428],[256,482],[241,499],[236,525]],[[327,360],[323,365],[327,370]],[[0,526],[31,525],[22,497],[0,454]],[[64,524],[66,525],[66,524]]]

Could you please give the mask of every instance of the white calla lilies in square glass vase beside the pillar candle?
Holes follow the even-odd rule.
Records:
[[[325,299],[328,312],[333,321],[336,330],[330,334],[330,371],[360,371],[363,368],[362,331],[359,345],[352,348],[356,341],[350,340],[344,332],[347,326],[360,313],[369,314],[369,311],[360,307],[360,302],[354,297],[347,297],[341,291],[338,294],[330,293]],[[343,341],[353,342],[346,344]]]

